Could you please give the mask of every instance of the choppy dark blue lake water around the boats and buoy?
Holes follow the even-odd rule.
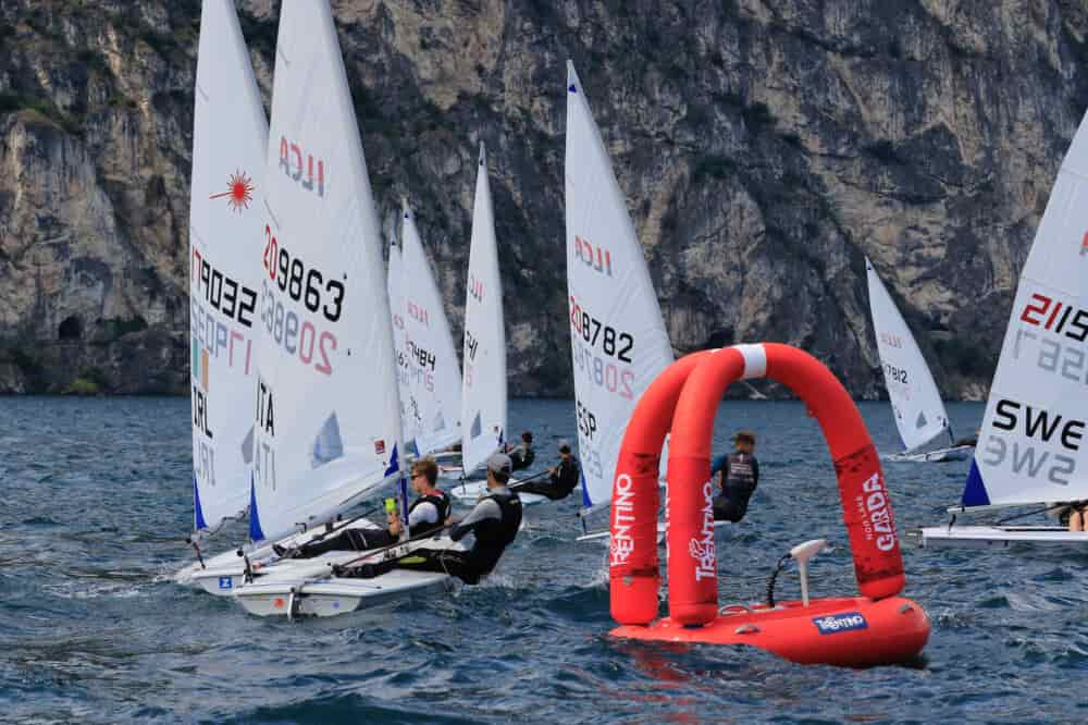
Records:
[[[887,404],[863,404],[898,450]],[[973,430],[979,405],[953,405]],[[552,459],[569,402],[515,401]],[[833,471],[794,403],[730,403],[718,440],[759,434],[746,520],[719,529],[722,603],[762,600],[777,558],[826,536],[814,593],[854,592]],[[1084,722],[1088,558],[905,546],[934,634],[915,667],[802,667],[746,648],[673,652],[606,632],[604,546],[578,502],[482,587],[331,620],[263,620],[182,589],[188,401],[0,398],[0,718],[118,722]],[[901,530],[944,519],[966,464],[886,464]],[[242,534],[239,527],[238,534]],[[796,577],[780,595],[796,595]]]

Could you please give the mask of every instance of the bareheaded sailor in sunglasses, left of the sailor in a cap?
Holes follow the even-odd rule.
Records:
[[[433,458],[420,458],[411,467],[411,488],[416,492],[416,501],[408,507],[408,533],[420,536],[442,527],[449,518],[449,496],[435,488],[438,480],[438,466]],[[330,551],[367,551],[379,546],[387,546],[400,539],[404,527],[396,512],[386,514],[387,528],[345,529],[334,537],[321,541],[311,541],[290,551],[286,546],[273,544],[277,556],[287,558],[312,558]]]

